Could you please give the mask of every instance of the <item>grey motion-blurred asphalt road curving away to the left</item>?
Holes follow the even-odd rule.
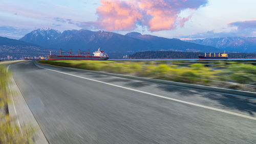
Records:
[[[33,61],[10,65],[14,80],[50,143],[256,142],[256,121],[246,117],[256,117],[255,99],[42,67],[48,69],[35,66]]]

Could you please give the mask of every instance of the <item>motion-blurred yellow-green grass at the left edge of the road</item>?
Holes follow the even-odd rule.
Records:
[[[0,65],[0,143],[33,143],[34,130],[31,126],[16,124],[16,117],[10,117],[8,111],[8,83],[11,73]]]

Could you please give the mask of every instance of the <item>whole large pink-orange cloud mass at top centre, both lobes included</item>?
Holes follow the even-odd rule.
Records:
[[[178,15],[185,9],[198,9],[208,0],[101,0],[97,8],[96,21],[83,22],[83,28],[95,27],[109,31],[134,30],[136,25],[150,31],[173,30],[177,23],[183,27],[192,15],[182,18]]]

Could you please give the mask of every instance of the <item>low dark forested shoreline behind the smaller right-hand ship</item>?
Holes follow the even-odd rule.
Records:
[[[130,59],[198,59],[199,55],[204,53],[194,52],[164,52],[164,51],[147,51],[139,52],[129,56]],[[256,58],[256,54],[248,53],[229,53],[229,58]]]

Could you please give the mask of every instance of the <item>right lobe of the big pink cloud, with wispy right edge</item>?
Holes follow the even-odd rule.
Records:
[[[176,22],[180,22],[180,26],[184,26],[187,18],[180,18],[178,14],[184,9],[198,9],[205,5],[207,1],[163,1],[163,0],[141,0],[140,8],[150,16],[146,19],[146,25],[150,31],[173,30],[176,28]],[[179,20],[181,19],[181,20]],[[148,20],[148,21],[147,21]]]

